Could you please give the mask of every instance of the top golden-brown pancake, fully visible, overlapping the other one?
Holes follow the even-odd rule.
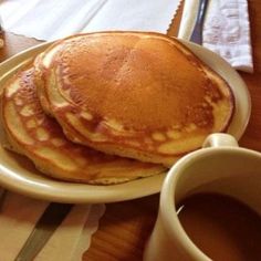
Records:
[[[171,165],[225,132],[229,85],[176,39],[101,32],[54,43],[35,61],[44,109],[95,149]]]

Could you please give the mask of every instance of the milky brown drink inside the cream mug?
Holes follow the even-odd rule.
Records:
[[[210,259],[261,260],[261,218],[248,206],[227,196],[199,194],[177,209],[185,231]]]

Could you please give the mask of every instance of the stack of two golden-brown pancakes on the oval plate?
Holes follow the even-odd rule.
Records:
[[[166,171],[234,111],[223,79],[176,39],[144,32],[60,40],[1,97],[9,148],[45,175],[98,185]]]

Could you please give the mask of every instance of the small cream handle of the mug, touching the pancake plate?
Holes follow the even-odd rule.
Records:
[[[225,133],[210,134],[202,144],[203,148],[207,147],[239,147],[237,139]]]

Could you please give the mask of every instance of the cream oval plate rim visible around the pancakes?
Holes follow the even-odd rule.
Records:
[[[230,84],[236,96],[236,114],[228,133],[239,139],[247,127],[251,111],[247,86],[239,74],[220,56],[199,45],[182,42]],[[29,49],[3,62],[0,65],[1,86],[22,64],[45,50],[49,44],[44,43]],[[4,143],[1,126],[0,142]],[[165,175],[158,175],[112,186],[62,182],[41,175],[28,159],[9,153],[0,146],[0,184],[12,191],[50,201],[91,203],[139,198],[158,192],[164,177]]]

